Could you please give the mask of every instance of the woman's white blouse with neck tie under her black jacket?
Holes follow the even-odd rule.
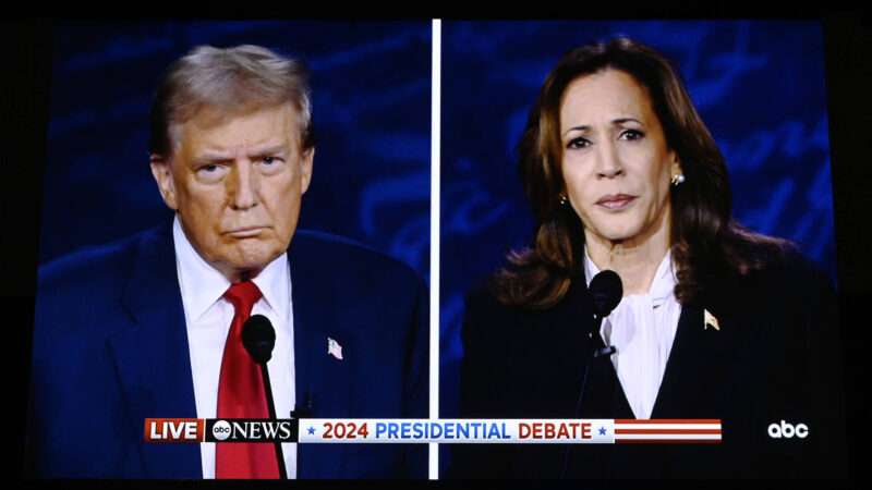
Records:
[[[600,273],[586,248],[584,273],[588,285]],[[667,250],[649,292],[623,296],[611,314],[603,319],[600,332],[603,342],[616,348],[611,364],[635,418],[651,418],[673,350],[681,316],[681,305],[673,292],[676,282],[671,253]]]

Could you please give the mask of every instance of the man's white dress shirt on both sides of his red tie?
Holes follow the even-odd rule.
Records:
[[[230,287],[217,269],[197,254],[182,231],[179,216],[172,223],[175,267],[187,329],[194,400],[198,418],[215,418],[218,412],[218,380],[225,341],[233,320],[233,305],[223,298]],[[276,329],[276,347],[267,364],[276,416],[289,418],[295,403],[293,364],[293,308],[288,255],[282,254],[252,279],[263,293],[252,315],[269,318]],[[283,443],[288,478],[296,478],[296,444]],[[203,478],[215,478],[215,443],[201,443]]]

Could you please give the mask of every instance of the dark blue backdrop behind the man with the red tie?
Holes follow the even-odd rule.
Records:
[[[170,216],[148,168],[148,110],[197,45],[255,44],[312,73],[317,138],[301,228],[429,271],[431,23],[66,23],[53,29],[40,264]]]

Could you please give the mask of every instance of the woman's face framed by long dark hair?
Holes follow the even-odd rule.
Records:
[[[631,75],[609,69],[570,83],[560,142],[567,196],[588,241],[631,244],[668,231],[678,157],[647,90]]]

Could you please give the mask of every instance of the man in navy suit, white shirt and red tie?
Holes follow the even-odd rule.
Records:
[[[146,444],[146,417],[261,418],[245,354],[275,327],[276,414],[425,417],[425,286],[349,241],[295,232],[312,177],[306,76],[264,48],[201,47],[153,106],[174,218],[40,269],[28,456],[41,477],[425,477],[426,446]]]

